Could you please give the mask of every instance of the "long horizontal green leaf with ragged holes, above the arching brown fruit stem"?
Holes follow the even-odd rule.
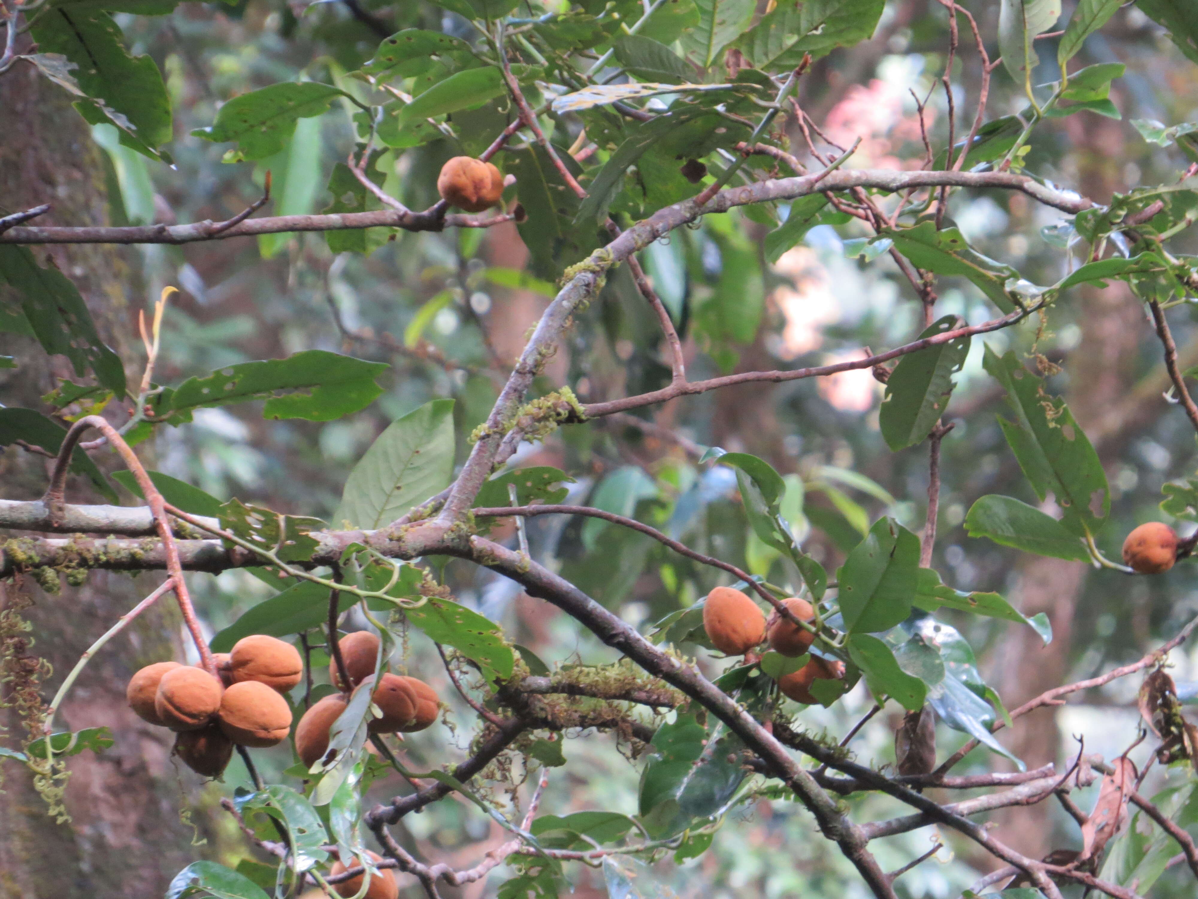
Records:
[[[332,421],[370,405],[382,393],[375,379],[387,368],[325,350],[242,362],[183,381],[169,398],[171,423],[190,421],[195,409],[252,399],[266,399],[264,418]]]

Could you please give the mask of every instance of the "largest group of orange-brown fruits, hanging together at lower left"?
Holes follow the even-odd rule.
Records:
[[[329,663],[329,680],[340,690],[309,708],[296,726],[296,752],[311,767],[328,752],[329,729],[345,711],[351,692],[374,683],[379,638],[365,630],[341,638],[338,646],[349,682]],[[254,634],[228,653],[216,653],[217,676],[177,662],[146,665],[129,680],[126,699],[144,720],[176,731],[175,755],[205,777],[219,777],[235,746],[277,746],[291,732],[291,706],[283,694],[303,677],[295,646]],[[416,677],[385,674],[371,701],[382,711],[373,734],[424,730],[441,708],[436,692]]]

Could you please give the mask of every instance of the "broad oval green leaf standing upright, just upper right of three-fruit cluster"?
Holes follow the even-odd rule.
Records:
[[[904,620],[918,574],[919,538],[894,519],[879,518],[837,574],[846,629],[851,634],[889,630]]]

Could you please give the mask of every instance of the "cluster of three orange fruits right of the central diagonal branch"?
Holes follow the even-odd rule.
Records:
[[[783,599],[782,604],[799,621],[815,621],[815,609],[806,599],[791,597]],[[757,603],[732,587],[715,587],[707,595],[707,602],[703,603],[703,629],[712,645],[730,656],[743,656],[760,646],[762,640],[769,640],[769,647],[774,652],[798,658],[816,639],[815,633],[783,619],[776,609],[767,620]],[[810,706],[819,701],[811,694],[812,683],[839,681],[843,676],[845,663],[812,656],[798,671],[782,675],[778,688],[795,702]]]

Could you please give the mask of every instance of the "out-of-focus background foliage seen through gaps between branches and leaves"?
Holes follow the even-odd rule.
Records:
[[[978,16],[984,34],[996,34],[998,4],[963,6]],[[1066,4],[1066,13],[1071,6]],[[175,109],[176,168],[133,153],[117,144],[109,126],[96,126],[95,138],[105,152],[113,224],[228,218],[259,195],[267,169],[274,180],[270,207],[274,213],[327,209],[339,198],[327,193],[325,183],[353,144],[351,105],[344,104],[341,114],[301,120],[285,150],[256,163],[223,163],[225,147],[192,137],[192,129],[211,125],[231,97],[280,80],[311,79],[356,90],[345,73],[375,55],[382,35],[424,28],[467,36],[470,28],[428,2],[371,0],[187,4],[168,16],[121,13],[116,19],[132,52],[149,53],[167,78]],[[921,137],[913,95],[928,95],[939,78],[946,37],[948,16],[938,4],[890,0],[876,36],[821,59],[801,79],[799,101],[816,120],[827,122],[825,132],[837,143],[863,138],[852,167],[918,164]],[[1053,56],[1041,54],[1037,83],[1057,78]],[[1146,144],[1129,120],[1198,119],[1198,68],[1131,6],[1088,40],[1079,60],[1127,66],[1112,93],[1123,120],[1081,114],[1048,122],[1036,133],[1027,167],[1099,201],[1142,182],[1175,179],[1184,168],[1180,156]],[[958,115],[962,110],[972,115],[979,60],[967,42],[954,78]],[[996,72],[991,116],[1018,111],[1023,104],[1017,85],[1005,72]],[[462,114],[462,129],[471,129],[465,119],[474,116],[483,135],[479,146],[467,147],[471,152],[489,143],[497,129],[484,119],[500,111],[504,110]],[[946,117],[943,92],[931,90],[925,125],[933,144],[945,140]],[[805,158],[799,135],[792,140],[793,152]],[[413,209],[428,205],[435,197],[435,173],[459,150],[434,141],[411,151],[400,170],[385,173],[388,189]],[[519,182],[515,189],[519,193]],[[1052,240],[1051,229],[1060,219],[1053,210],[1014,193],[957,194],[950,216],[978,249],[1009,261],[1036,283],[1053,283],[1067,271],[1069,254]],[[920,302],[890,258],[860,257],[860,245],[852,241],[867,233],[858,222],[812,229],[774,265],[762,246],[769,228],[746,212],[710,216],[643,254],[679,322],[692,378],[823,364],[858,355],[863,346],[897,345],[921,330]],[[162,382],[305,349],[391,364],[381,379],[385,392],[367,412],[316,423],[265,421],[253,405],[201,410],[193,427],[156,435],[155,467],[220,499],[237,496],[328,519],[346,473],[374,438],[400,415],[441,397],[456,400],[459,458],[464,455],[465,436],[490,410],[559,272],[538,263],[543,247],[526,247],[510,224],[367,239],[379,245],[368,255],[334,252],[333,236],[326,240],[321,234],[122,251],[129,265],[125,283],[132,308],[149,308],[165,285],[182,291],[165,318],[157,372]],[[963,279],[942,278],[937,290],[938,315],[955,313],[978,324],[991,314],[980,291]],[[969,639],[987,682],[997,686],[1008,707],[1048,686],[1138,658],[1150,641],[1175,633],[1198,614],[1190,566],[1154,579],[1129,579],[1052,561],[1055,569],[1072,572],[1061,579],[1015,550],[968,538],[962,527],[966,511],[982,494],[1035,502],[996,423],[1002,397],[981,370],[984,343],[999,352],[1037,352],[1063,364],[1049,390],[1070,399],[1112,484],[1114,524],[1100,538],[1108,556],[1118,557],[1123,536],[1136,524],[1161,517],[1161,485],[1194,471],[1196,445],[1182,412],[1162,397],[1167,382],[1161,350],[1142,309],[1119,284],[1073,290],[1046,318],[974,340],[954,394],[950,417],[956,427],[944,441],[933,566],[960,590],[997,590],[1028,615],[1047,611],[1057,635],[1052,645],[1039,648],[1029,646],[1015,625],[944,613]],[[1184,361],[1198,364],[1191,307],[1170,318]],[[553,358],[539,387],[571,384],[586,402],[652,390],[667,382],[668,374],[652,313],[621,269],[600,301],[581,316],[569,346]],[[5,379],[12,382],[19,376],[0,370],[0,390]],[[518,461],[577,473],[571,502],[589,497],[591,505],[635,514],[700,551],[779,577],[783,563],[751,535],[730,470],[697,463],[698,452],[708,446],[757,453],[792,483],[803,484],[804,505],[792,509],[791,524],[807,535],[805,548],[831,569],[881,514],[913,530],[924,519],[926,446],[887,450],[878,430],[882,390],[869,370],[774,387],[749,385],[651,409],[646,424],[617,417],[571,426],[544,444],[526,446]],[[510,538],[510,530],[503,530],[509,527],[501,525],[496,533]],[[530,521],[530,537],[538,559],[551,561],[580,587],[642,626],[694,603],[720,583],[712,569],[641,535],[595,521],[536,519]],[[521,596],[508,581],[460,562],[450,562],[446,577],[461,602],[500,621],[507,634],[550,665],[616,658],[571,620]],[[783,571],[780,577],[788,575]],[[267,595],[243,572],[195,577],[193,584],[213,632]],[[413,644],[406,664],[435,683],[443,698],[455,699],[435,656]],[[714,671],[720,663],[708,658],[703,664]],[[1181,660],[1181,669],[1175,672],[1179,680],[1198,676],[1193,659]],[[1129,693],[1133,687],[1117,682],[1109,690],[1087,694],[1085,704],[1029,716],[1003,741],[1029,766],[1037,766],[1076,753],[1069,735],[1084,731],[1087,749],[1111,758],[1130,742],[1135,728],[1135,696]],[[842,734],[870,705],[859,687],[831,710],[812,707],[804,720]],[[459,704],[453,717],[459,722],[456,736],[438,724],[406,743],[417,766],[452,761],[465,752],[473,712]],[[854,743],[858,758],[871,764],[893,759],[897,717],[865,729]],[[942,742],[943,755],[961,735],[942,729],[940,738],[949,741]],[[571,764],[564,773],[553,772],[541,810],[562,815],[601,807],[634,813],[639,773],[619,750],[607,736],[587,734],[570,741],[565,755]],[[274,754],[273,773],[279,773],[290,765],[289,750]],[[993,758],[970,761],[990,765]],[[963,766],[958,773],[964,771]],[[238,761],[225,780],[205,788],[204,795],[193,792],[190,800],[212,808],[218,794],[244,780]],[[387,786],[386,779],[379,782],[376,795],[389,796]],[[1078,802],[1088,807],[1087,797]],[[878,797],[852,803],[876,807],[858,816],[896,810]],[[1004,839],[1029,853],[1053,847],[1076,828],[1048,803],[996,820]],[[404,826],[405,837],[426,858],[453,864],[477,858],[500,834],[477,809],[454,801],[409,816]],[[232,835],[212,839],[200,852],[236,865],[247,850]],[[876,851],[882,867],[893,869],[915,857],[928,847],[927,839],[925,829],[881,841]],[[976,877],[970,849],[948,841],[961,856],[942,850],[942,863],[921,865],[900,881],[902,895],[955,897]],[[605,879],[618,887],[618,874],[612,865],[574,871],[575,894],[604,894]],[[491,895],[501,881],[495,876],[458,894]],[[678,867],[637,871],[636,882],[641,895],[668,895],[668,891],[715,897],[865,895],[848,862],[788,801],[750,803],[724,827],[712,851]],[[413,883],[407,889],[415,895],[419,887]],[[1166,875],[1154,895],[1182,897],[1188,889],[1181,877],[1172,881]]]

